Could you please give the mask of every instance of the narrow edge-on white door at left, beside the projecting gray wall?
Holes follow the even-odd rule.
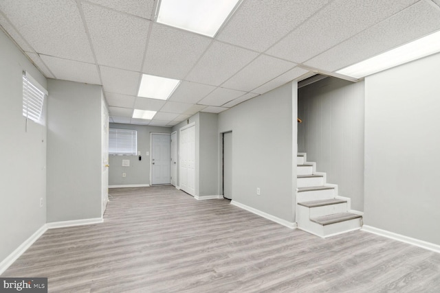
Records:
[[[102,155],[102,207],[101,215],[104,215],[107,202],[109,201],[109,112],[104,101],[102,101],[102,133],[101,133],[101,155]]]

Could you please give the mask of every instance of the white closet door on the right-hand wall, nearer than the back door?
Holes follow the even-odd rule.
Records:
[[[195,196],[195,126],[180,130],[180,189]]]

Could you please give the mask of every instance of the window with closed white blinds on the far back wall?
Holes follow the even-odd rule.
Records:
[[[109,154],[137,154],[137,131],[110,128]]]

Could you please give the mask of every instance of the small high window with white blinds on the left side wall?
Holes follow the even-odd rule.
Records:
[[[23,72],[23,116],[35,122],[41,121],[44,97],[47,91],[27,72]]]

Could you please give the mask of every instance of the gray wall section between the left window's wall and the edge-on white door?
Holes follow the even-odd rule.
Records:
[[[47,222],[100,218],[101,86],[47,86]]]

